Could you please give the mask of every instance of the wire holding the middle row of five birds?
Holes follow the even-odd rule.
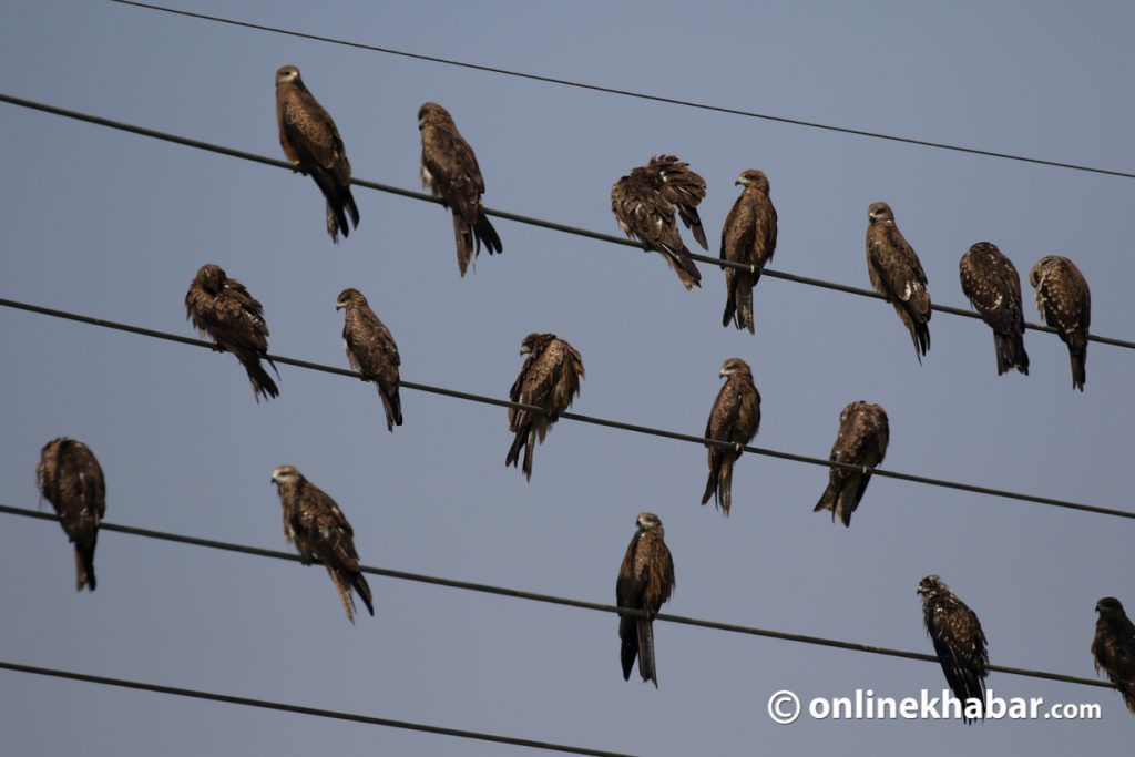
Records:
[[[167,342],[177,342],[179,344],[187,344],[195,347],[205,347],[210,351],[216,348],[216,345],[211,342],[205,342],[203,339],[195,339],[187,336],[182,336],[179,334],[169,334],[168,331],[159,331],[157,329],[144,328],[141,326],[132,326],[129,323],[119,323],[117,321],[110,321],[102,318],[94,318],[92,316],[83,316],[79,313],[73,313],[65,310],[54,310],[52,308],[44,308],[42,305],[33,305],[26,302],[19,302],[16,300],[8,300],[0,297],[0,308],[11,308],[15,310],[24,310],[32,313],[39,313],[41,316],[50,316],[52,318],[61,318],[64,320],[77,321],[79,323],[87,323],[90,326],[98,326],[101,328],[115,329],[118,331],[126,331],[128,334],[137,334],[141,336],[148,336],[155,339],[165,339]],[[322,363],[316,363],[308,360],[299,360],[296,358],[288,358],[286,355],[275,355],[269,354],[272,361],[284,364],[284,365],[295,365],[296,368],[303,368],[306,370],[320,371],[323,373],[335,373],[336,376],[346,376],[355,379],[361,379],[362,375],[347,370],[345,368],[336,368],[335,365],[326,365]],[[511,402],[508,399],[498,399],[496,397],[489,397],[486,395],[473,394],[470,392],[459,392],[456,389],[446,389],[444,387],[430,386],[429,384],[419,384],[415,381],[400,381],[401,387],[411,389],[414,392],[426,392],[429,394],[439,394],[446,397],[454,397],[457,399],[465,399],[468,402],[478,402],[486,405],[496,405],[498,407],[514,407],[516,410],[526,410],[529,412],[550,414],[544,407],[537,407],[536,405],[526,405],[519,402]],[[653,428],[649,426],[638,426],[636,423],[625,423],[623,421],[611,420],[606,418],[598,418],[595,415],[583,415],[581,413],[564,412],[560,413],[557,418],[568,419],[571,421],[579,421],[581,423],[590,423],[592,426],[604,426],[606,428],[621,429],[624,431],[631,431],[633,434],[642,434],[647,436],[656,436],[665,439],[675,439],[678,441],[687,441],[690,444],[697,444],[699,446],[715,446],[721,448],[734,449],[737,445],[730,441],[721,441],[718,439],[707,439],[705,437],[695,436],[692,434],[681,434],[678,431],[667,431],[665,429]],[[766,457],[777,457],[780,460],[791,460],[798,463],[808,463],[809,465],[819,465],[822,468],[840,468],[850,471],[860,471],[863,468],[860,465],[852,465],[850,463],[841,463],[826,457],[812,457],[809,455],[798,455],[791,452],[781,452],[779,449],[768,449],[765,447],[754,447],[754,446],[742,446],[742,451],[753,453],[755,455],[763,455]],[[982,494],[991,497],[1001,497],[1006,499],[1018,499],[1020,502],[1031,502],[1040,505],[1050,505],[1053,507],[1065,507],[1068,510],[1077,510],[1081,512],[1096,513],[1099,515],[1115,515],[1117,518],[1135,519],[1135,512],[1126,510],[1116,510],[1112,507],[1103,507],[1100,505],[1088,505],[1078,502],[1071,502],[1069,499],[1057,499],[1054,497],[1042,497],[1032,494],[1023,494],[1019,491],[1010,491],[1008,489],[994,489],[992,487],[977,486],[974,483],[966,483],[962,481],[950,481],[947,479],[931,478],[928,476],[916,476],[914,473],[900,473],[899,471],[884,470],[875,468],[872,470],[872,476],[878,476],[883,478],[898,479],[900,481],[910,481],[913,483],[922,483],[925,486],[935,486],[945,489],[957,489],[959,491],[970,491],[973,494]]]

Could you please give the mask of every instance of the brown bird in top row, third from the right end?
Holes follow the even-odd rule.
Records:
[[[894,212],[885,202],[867,208],[867,275],[871,285],[894,306],[915,344],[915,356],[930,350],[930,293],[922,262],[902,232],[894,225]]]

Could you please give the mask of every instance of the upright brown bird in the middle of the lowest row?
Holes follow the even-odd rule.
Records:
[[[654,513],[639,513],[637,529],[623,555],[615,581],[615,603],[620,607],[640,609],[646,617],[619,616],[620,657],[623,680],[631,679],[634,658],[639,661],[639,675],[658,688],[658,672],[654,664],[654,615],[674,592],[674,561],[666,547],[662,520]]]

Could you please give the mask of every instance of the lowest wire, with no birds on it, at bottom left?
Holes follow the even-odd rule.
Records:
[[[135,689],[138,691],[150,691],[153,693],[168,693],[175,697],[186,697],[190,699],[204,699],[207,701],[221,701],[226,705],[239,705],[242,707],[257,707],[259,709],[274,709],[283,713],[294,713],[296,715],[310,715],[312,717],[325,717],[336,721],[348,721],[352,723],[365,723],[368,725],[385,725],[394,729],[405,729],[409,731],[421,731],[423,733],[439,733],[452,735],[459,739],[471,739],[476,741],[493,741],[496,743],[507,743],[516,747],[529,747],[532,749],[546,749],[548,751],[566,751],[573,755],[594,755],[595,757],[632,757],[621,751],[606,751],[604,749],[588,749],[587,747],[571,747],[550,741],[535,741],[532,739],[518,739],[510,735],[498,735],[495,733],[481,733],[479,731],[464,731],[462,729],[448,729],[438,725],[427,725],[424,723],[411,723],[409,721],[396,721],[389,717],[375,717],[372,715],[358,715],[344,713],[336,709],[322,709],[319,707],[304,707],[302,705],[289,705],[283,701],[271,701],[268,699],[252,699],[250,697],[236,697],[228,693],[215,693],[211,691],[199,691],[196,689],[183,689],[159,683],[144,683],[128,679],[108,678],[106,675],[91,675],[90,673],[77,673],[75,671],[64,671],[53,667],[39,667],[35,665],[23,665],[0,661],[0,670],[16,671],[18,673],[31,673],[33,675],[47,675],[69,681],[83,681],[85,683],[98,683],[100,685],[112,685],[120,689]]]

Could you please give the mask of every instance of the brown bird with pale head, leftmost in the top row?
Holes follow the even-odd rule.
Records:
[[[280,146],[295,170],[316,180],[327,200],[327,233],[338,244],[339,232],[351,235],[347,213],[359,228],[359,208],[351,195],[351,161],[335,121],[308,91],[300,69],[276,72],[276,121]]]

